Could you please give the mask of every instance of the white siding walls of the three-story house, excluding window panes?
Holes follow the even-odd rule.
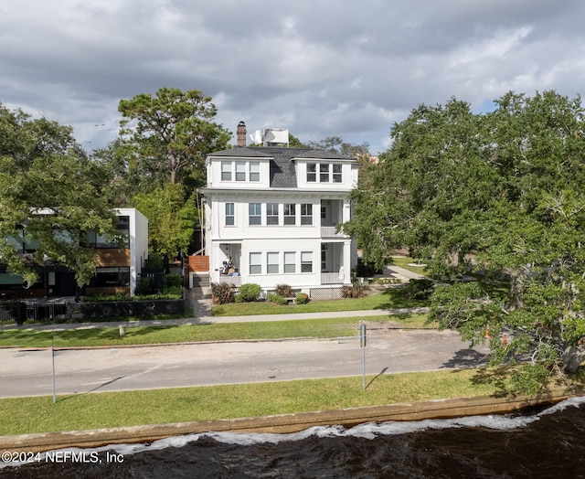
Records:
[[[229,180],[221,180],[221,163],[230,161]],[[260,161],[261,181],[236,181],[236,162]],[[297,188],[270,188],[270,160],[257,158],[207,159],[206,196],[206,252],[210,258],[213,282],[230,281],[220,274],[223,261],[232,261],[239,272],[240,282],[255,282],[264,290],[273,290],[277,284],[290,284],[294,289],[307,291],[319,287],[324,277],[327,284],[349,283],[351,268],[355,266],[356,243],[342,234],[332,234],[337,222],[350,218],[349,193],[357,177],[355,164],[335,160],[293,160],[296,167]],[[342,167],[342,182],[307,182],[307,163],[336,164]],[[226,171],[226,170],[224,170]],[[250,171],[249,166],[246,169]],[[317,173],[318,175],[318,173]],[[333,167],[331,169],[333,179]],[[226,224],[226,204],[233,203],[233,225]],[[260,225],[250,225],[250,203],[261,204]],[[278,204],[279,224],[268,224],[267,205]],[[295,205],[295,224],[284,224],[284,205]],[[302,205],[311,205],[312,224],[302,224]],[[322,225],[321,210],[327,216]],[[322,229],[324,226],[324,229]],[[326,229],[328,228],[328,229]],[[329,245],[326,270],[322,271],[321,251]],[[286,252],[294,252],[294,272],[284,271]],[[260,254],[260,272],[250,273],[250,253]],[[312,258],[312,271],[303,271],[304,256]],[[259,256],[254,257],[258,259]],[[268,264],[272,268],[269,272]],[[276,261],[278,259],[278,261]],[[305,264],[305,270],[308,265]],[[258,268],[255,268],[258,270]],[[278,271],[278,272],[275,272]],[[322,272],[324,274],[322,274]]]

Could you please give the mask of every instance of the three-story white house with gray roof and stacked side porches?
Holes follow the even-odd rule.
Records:
[[[211,281],[339,296],[357,262],[355,239],[337,231],[350,219],[357,174],[352,158],[310,148],[209,154],[201,192]]]

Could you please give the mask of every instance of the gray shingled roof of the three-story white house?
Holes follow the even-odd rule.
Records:
[[[209,154],[209,156],[271,158],[271,187],[273,188],[296,187],[293,158],[353,161],[352,158],[345,154],[314,150],[312,148],[287,148],[282,146],[239,146],[215,152]]]

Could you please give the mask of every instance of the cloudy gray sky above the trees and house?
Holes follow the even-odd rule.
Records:
[[[5,1],[0,102],[91,150],[116,136],[121,99],[202,90],[234,144],[243,120],[378,153],[420,103],[583,93],[583,20],[582,0]]]

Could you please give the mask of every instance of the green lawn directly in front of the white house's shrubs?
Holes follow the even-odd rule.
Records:
[[[278,305],[269,302],[229,303],[214,306],[214,316],[241,316],[251,314],[322,313],[327,311],[363,311],[367,309],[411,308],[427,306],[424,301],[410,300],[397,288],[364,298],[316,300],[306,304]]]

